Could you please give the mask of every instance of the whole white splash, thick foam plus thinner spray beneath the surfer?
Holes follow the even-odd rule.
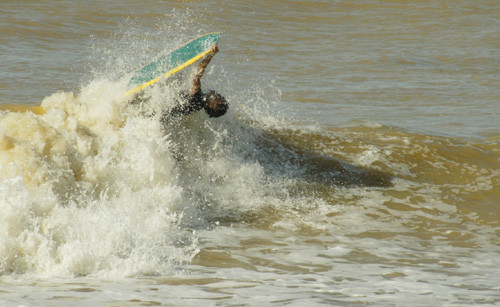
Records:
[[[0,114],[2,275],[171,274],[197,255],[198,229],[241,221],[274,188],[242,159],[256,133],[237,123],[237,96],[217,121],[163,125],[182,80],[138,104],[123,95],[127,76],[93,74],[79,94],[45,98],[44,114]]]

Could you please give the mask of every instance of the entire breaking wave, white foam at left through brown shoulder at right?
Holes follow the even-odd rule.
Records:
[[[137,105],[94,78],[44,114],[0,113],[0,274],[168,275],[199,257],[200,232],[235,224],[496,244],[498,136],[304,126],[272,85],[228,90],[222,118],[162,125],[180,85]]]

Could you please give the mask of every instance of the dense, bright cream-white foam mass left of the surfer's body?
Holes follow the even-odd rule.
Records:
[[[166,134],[120,112],[110,88],[56,93],[42,116],[2,114],[4,274],[157,274],[194,255]]]

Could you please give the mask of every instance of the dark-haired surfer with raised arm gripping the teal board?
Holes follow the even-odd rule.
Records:
[[[220,117],[226,114],[229,105],[221,94],[215,91],[208,91],[207,93],[201,91],[201,77],[217,52],[219,52],[219,48],[217,44],[214,44],[210,53],[208,53],[198,67],[194,69],[193,81],[189,93],[182,92],[180,94],[181,101],[179,104],[169,110],[167,114],[164,114],[164,118],[166,116],[187,115],[192,112],[200,111],[201,109],[205,109],[205,112],[207,112],[210,117]]]

